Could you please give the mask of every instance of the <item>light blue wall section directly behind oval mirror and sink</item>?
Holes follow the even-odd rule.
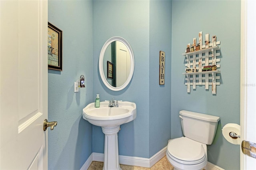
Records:
[[[148,158],[149,138],[149,1],[93,1],[93,95],[100,101],[135,102],[137,118],[121,125],[118,132],[119,154]],[[134,75],[124,90],[114,92],[106,88],[98,71],[103,44],[113,36],[126,39],[134,52]],[[92,127],[92,151],[104,153],[104,134]]]

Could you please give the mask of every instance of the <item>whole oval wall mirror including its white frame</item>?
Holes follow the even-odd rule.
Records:
[[[99,71],[103,83],[114,91],[124,89],[132,79],[134,55],[122,37],[108,39],[100,51]]]

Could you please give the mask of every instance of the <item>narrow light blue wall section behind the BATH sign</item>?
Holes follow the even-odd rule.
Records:
[[[150,1],[149,157],[171,138],[172,2]],[[159,85],[159,51],[165,52],[165,84]]]

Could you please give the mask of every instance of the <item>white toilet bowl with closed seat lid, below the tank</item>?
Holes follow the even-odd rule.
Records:
[[[190,138],[170,140],[166,158],[174,170],[202,170],[207,164],[207,146]]]

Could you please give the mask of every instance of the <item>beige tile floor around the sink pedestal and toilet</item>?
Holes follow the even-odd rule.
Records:
[[[154,164],[151,168],[144,168],[139,166],[130,166],[130,165],[122,165],[120,164],[122,170],[173,170],[173,166],[167,160],[166,156],[164,156],[161,160],[159,160],[156,164]],[[103,162],[92,161],[92,164],[88,168],[88,170],[102,170]]]

